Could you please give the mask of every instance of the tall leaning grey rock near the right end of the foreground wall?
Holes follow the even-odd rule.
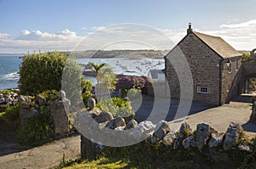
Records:
[[[242,127],[240,124],[231,122],[225,134],[223,148],[224,150],[229,150],[234,147],[240,138],[242,132]]]

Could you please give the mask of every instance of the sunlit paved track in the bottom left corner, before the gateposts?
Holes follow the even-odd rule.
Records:
[[[0,156],[1,169],[50,168],[65,159],[74,160],[80,154],[80,136],[62,138],[33,149]]]

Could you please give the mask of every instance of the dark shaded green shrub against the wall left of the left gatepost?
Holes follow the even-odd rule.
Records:
[[[49,106],[41,106],[39,112],[26,121],[26,125],[20,127],[17,141],[21,144],[41,141],[53,136],[54,122],[50,118]]]

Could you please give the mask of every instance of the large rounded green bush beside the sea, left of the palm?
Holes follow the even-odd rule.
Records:
[[[68,67],[70,74],[81,71],[74,60],[59,52],[27,54],[20,65],[20,93],[36,95],[46,90],[61,90],[61,79],[67,60],[69,63],[73,62]]]

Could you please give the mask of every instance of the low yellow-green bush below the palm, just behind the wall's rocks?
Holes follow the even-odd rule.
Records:
[[[102,99],[96,104],[96,107],[102,111],[110,112],[114,117],[131,117],[135,115],[130,102],[120,98]]]

